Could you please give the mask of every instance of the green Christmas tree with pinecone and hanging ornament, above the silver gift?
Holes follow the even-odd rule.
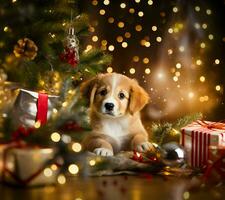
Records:
[[[2,3],[0,65],[1,74],[5,73],[2,82],[7,76],[8,84],[59,95],[64,107],[73,107],[74,102],[68,101],[75,101],[78,94],[75,90],[81,80],[96,74],[111,60],[102,51],[84,46],[88,17],[79,13],[77,3]]]

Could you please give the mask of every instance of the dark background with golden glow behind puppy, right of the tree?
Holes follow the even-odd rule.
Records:
[[[121,8],[121,3],[126,7]],[[178,12],[173,12],[174,7]],[[134,13],[129,12],[130,8]],[[102,9],[104,15],[100,14]],[[92,26],[86,44],[111,53],[113,71],[138,79],[149,92],[151,103],[144,111],[146,119],[173,120],[193,112],[202,112],[210,120],[225,119],[223,0],[83,0],[80,10],[89,15]],[[210,14],[207,14],[208,10]],[[140,11],[143,17],[138,15]],[[113,23],[108,22],[110,17],[113,17]],[[119,28],[119,22],[123,22],[124,27]],[[136,31],[136,25],[141,25],[142,30]],[[152,26],[157,26],[157,30],[153,31]],[[176,27],[177,33],[174,32]],[[173,29],[172,34],[168,32],[169,28]],[[131,34],[130,38],[125,37],[126,32]],[[93,36],[98,40],[93,41]],[[117,41],[118,36],[127,42],[127,48]],[[162,41],[157,42],[157,37]],[[143,39],[150,42],[150,47],[140,44]],[[104,40],[107,41],[105,46]],[[200,47],[201,43],[205,48]],[[113,51],[108,50],[110,45],[114,46]],[[183,52],[179,50],[180,46],[185,48]],[[168,49],[173,50],[171,55],[168,55]],[[138,62],[133,60],[134,56],[139,57]],[[149,62],[144,63],[144,58]],[[201,65],[196,64],[198,59]],[[215,59],[220,63],[215,64]],[[180,69],[176,68],[177,63],[181,63]],[[135,69],[134,74],[130,73],[130,68]],[[145,73],[146,68],[150,69],[150,74]],[[158,77],[161,72],[163,78]],[[177,82],[173,80],[175,72],[180,73]],[[201,76],[204,76],[204,82],[200,81]],[[215,89],[217,85],[219,91]]]

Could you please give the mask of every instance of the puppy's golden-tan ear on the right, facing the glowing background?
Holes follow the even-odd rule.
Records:
[[[149,102],[148,93],[137,83],[131,80],[129,112],[133,115],[140,111]]]

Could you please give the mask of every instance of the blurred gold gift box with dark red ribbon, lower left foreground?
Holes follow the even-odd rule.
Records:
[[[11,148],[0,145],[1,181],[20,186],[55,184],[58,167],[47,166],[54,157],[51,148]]]

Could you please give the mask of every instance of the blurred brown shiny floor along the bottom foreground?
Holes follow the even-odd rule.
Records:
[[[64,185],[15,188],[0,185],[1,200],[182,200],[225,199],[225,186],[189,190],[190,180],[105,176],[71,178]]]

